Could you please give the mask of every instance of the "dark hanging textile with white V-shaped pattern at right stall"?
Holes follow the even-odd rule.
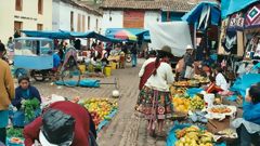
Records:
[[[224,48],[225,52],[231,52],[233,49],[237,48],[236,31],[226,30],[222,47]]]

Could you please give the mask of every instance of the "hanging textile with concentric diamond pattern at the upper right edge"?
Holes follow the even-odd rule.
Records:
[[[253,5],[246,13],[245,28],[260,26],[260,4]]]

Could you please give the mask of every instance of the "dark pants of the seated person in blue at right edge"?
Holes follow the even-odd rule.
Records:
[[[247,132],[246,127],[242,124],[237,130],[238,140],[233,144],[232,146],[251,146],[253,144],[255,146],[259,146],[259,135],[258,133],[250,134]]]

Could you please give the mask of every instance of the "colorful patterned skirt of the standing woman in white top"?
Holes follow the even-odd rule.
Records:
[[[173,105],[170,92],[161,92],[144,87],[140,91],[136,110],[144,114],[147,119],[168,119],[172,117]]]

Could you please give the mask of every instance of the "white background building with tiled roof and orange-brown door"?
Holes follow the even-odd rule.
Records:
[[[106,28],[144,28],[158,22],[180,21],[195,4],[187,0],[105,0],[102,30]]]

